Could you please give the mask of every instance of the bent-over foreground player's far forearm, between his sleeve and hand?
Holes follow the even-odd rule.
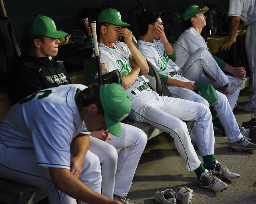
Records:
[[[76,136],[71,145],[71,152],[73,156],[81,157],[84,159],[90,144],[90,135],[79,134]]]

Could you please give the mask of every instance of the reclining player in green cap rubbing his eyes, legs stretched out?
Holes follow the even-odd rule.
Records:
[[[159,96],[148,87],[149,80],[143,75],[138,76],[139,72],[148,73],[146,59],[132,43],[131,31],[122,28],[129,24],[122,22],[121,15],[116,9],[108,8],[102,11],[98,23],[100,57],[103,62],[110,63],[109,68],[122,72],[124,88],[132,101],[130,118],[133,121],[149,123],[169,133],[174,138],[176,148],[185,160],[187,169],[196,172],[204,187],[212,191],[226,189],[227,184],[214,177],[207,169],[215,169],[215,173],[222,172],[221,176],[227,178],[236,178],[239,174],[223,169],[215,159],[212,145],[214,133],[209,108],[193,101]],[[120,36],[124,37],[125,43],[118,41]],[[186,124],[181,120],[195,120],[196,136],[200,138],[198,145],[207,169],[199,161],[190,142]]]

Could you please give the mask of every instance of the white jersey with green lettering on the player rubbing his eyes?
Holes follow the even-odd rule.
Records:
[[[129,62],[129,55],[131,55],[131,51],[125,43],[117,41],[113,44],[113,48],[99,43],[99,51],[101,60],[103,62],[110,62],[110,71],[119,69],[122,76],[127,75],[132,71],[132,67]],[[138,76],[137,80],[126,91],[128,93],[132,90],[134,90],[134,92],[138,92],[136,88],[148,82],[149,80],[146,77]]]

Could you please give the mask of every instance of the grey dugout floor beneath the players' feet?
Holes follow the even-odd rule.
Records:
[[[238,102],[248,99],[249,88],[241,91]],[[238,125],[251,118],[249,112],[234,110]],[[228,189],[223,192],[205,191],[200,187],[194,172],[188,172],[185,162],[175,149],[173,139],[165,133],[154,137],[142,154],[127,198],[138,203],[153,204],[155,191],[187,186],[194,190],[194,204],[244,204],[256,203],[256,151],[231,152],[228,138],[214,128],[216,159],[231,171],[241,175],[226,181]],[[197,151],[198,153],[198,151]],[[199,153],[198,153],[199,154]],[[202,161],[202,158],[199,157]],[[48,203],[46,200],[40,204]],[[179,203],[179,202],[177,202]]]

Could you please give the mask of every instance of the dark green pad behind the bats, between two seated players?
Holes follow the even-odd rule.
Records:
[[[83,61],[84,67],[84,84],[92,85],[97,73],[96,59],[94,57],[87,58]]]

